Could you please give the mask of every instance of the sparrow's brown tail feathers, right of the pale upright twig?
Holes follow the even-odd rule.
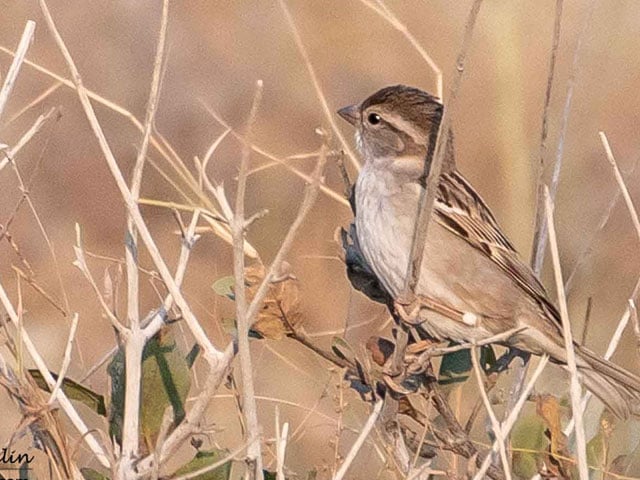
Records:
[[[640,416],[640,377],[576,345],[578,372],[584,386],[620,417]]]

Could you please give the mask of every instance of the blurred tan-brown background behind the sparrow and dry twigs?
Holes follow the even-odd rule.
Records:
[[[549,111],[549,163],[555,158],[576,39],[588,10],[586,2],[564,3]],[[87,88],[142,121],[161,2],[51,0],[48,4]],[[37,2],[2,0],[0,5],[0,46],[13,50],[25,22],[33,19],[37,23],[35,42],[27,58],[68,78]],[[436,77],[416,48],[365,3],[290,0],[287,5],[332,112],[390,84],[404,83],[436,92]],[[445,101],[470,5],[468,1],[440,0],[386,3],[398,24],[442,69]],[[484,2],[453,122],[460,170],[484,196],[525,259],[531,250],[554,9],[555,2],[551,0]],[[585,339],[600,353],[606,349],[640,272],[638,238],[624,203],[612,204],[618,187],[598,137],[599,131],[606,132],[631,196],[640,198],[640,170],[633,170],[640,155],[639,35],[637,2],[597,2],[575,78],[557,197],[556,222],[565,277],[581,263],[569,292],[574,332],[582,337],[587,300],[591,297],[593,308]],[[254,145],[300,171],[311,172],[315,156],[287,157],[316,152],[322,142],[316,128],[330,131],[330,126],[278,1],[172,2],[167,52],[155,124],[187,168],[194,171],[193,158],[202,158],[225,130],[212,111],[234,130],[243,131],[256,81],[261,79],[264,96],[254,127]],[[0,52],[1,75],[6,74],[11,60],[6,51]],[[31,179],[29,197],[54,246],[57,262],[33,214],[22,205],[10,227],[14,246],[6,239],[0,245],[0,280],[15,300],[17,281],[12,265],[25,269],[27,261],[43,288],[61,301],[68,298],[70,311],[80,316],[78,350],[69,375],[82,378],[115,345],[115,339],[90,286],[72,266],[74,226],[81,226],[88,251],[121,258],[125,215],[76,92],[60,85],[41,102],[22,111],[55,84],[51,75],[23,66],[4,124],[0,125],[0,143],[11,145],[39,114],[51,107],[59,108],[60,117],[49,122],[16,159],[22,175]],[[94,107],[121,168],[129,175],[140,145],[140,132],[113,108],[96,102]],[[350,126],[336,116],[334,120],[353,145]],[[330,148],[340,150],[335,134],[332,138]],[[153,149],[150,158],[175,177]],[[211,177],[223,181],[230,194],[234,193],[239,158],[240,144],[229,134],[209,165]],[[326,182],[341,194],[343,185],[335,160],[332,157],[329,161]],[[264,155],[252,154],[252,168],[264,168],[250,176],[247,195],[249,213],[263,208],[270,212],[248,234],[265,262],[273,258],[295,218],[304,190],[299,176],[272,163]],[[348,167],[355,178],[352,165],[348,163]],[[21,195],[15,175],[9,169],[2,171],[0,224],[5,225],[12,216]],[[145,170],[142,196],[186,203],[151,164]],[[609,210],[610,221],[602,227],[603,216]],[[173,264],[180,243],[171,212],[144,206],[143,214]],[[355,292],[346,279],[334,238],[336,230],[348,225],[350,219],[348,206],[321,195],[288,261],[299,279],[307,332],[324,346],[330,344],[333,335],[346,332],[359,353],[364,341],[384,332],[388,322],[385,310]],[[141,264],[151,265],[144,253]],[[109,265],[112,263],[105,260],[91,261],[98,279]],[[545,267],[543,278],[555,297],[549,267]],[[227,342],[220,324],[233,317],[233,304],[215,295],[211,285],[231,272],[229,245],[211,234],[205,235],[194,250],[184,291],[219,346]],[[50,368],[57,370],[69,319],[26,284],[22,289],[26,328]],[[146,295],[143,314],[156,306],[151,288]],[[256,341],[253,348],[260,419],[266,436],[273,434],[274,409],[279,405],[281,419],[291,423],[295,435],[287,450],[287,467],[293,473],[306,475],[315,466],[320,478],[327,478],[335,463],[334,446],[327,439],[335,442],[338,422],[342,422],[345,430],[339,451],[344,454],[355,439],[352,430],[358,430],[367,415],[366,409],[352,392],[337,387],[338,372],[328,369],[325,362],[294,342]],[[638,371],[631,329],[614,360]],[[104,368],[87,383],[106,391]],[[566,387],[566,377],[556,367],[549,369],[540,384],[540,389],[553,388],[556,392],[564,392]],[[214,432],[211,438],[220,446],[233,449],[240,442],[236,410],[229,391],[221,389],[220,395],[209,417]],[[20,416],[4,395],[0,395],[0,409],[7,412],[0,423],[0,443],[4,445]],[[105,428],[100,419],[90,422]],[[269,448],[266,451],[268,465],[273,453]],[[356,465],[359,467],[352,472],[359,473],[353,473],[352,478],[369,478],[383,467],[374,449],[363,451]]]

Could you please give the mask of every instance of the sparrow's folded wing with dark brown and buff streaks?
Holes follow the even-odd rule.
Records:
[[[522,262],[484,200],[457,171],[442,174],[434,213],[438,223],[485,254],[560,325],[538,278]]]

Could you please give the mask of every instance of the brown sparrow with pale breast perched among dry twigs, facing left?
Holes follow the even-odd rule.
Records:
[[[358,246],[379,283],[403,295],[425,161],[433,157],[444,107],[418,88],[394,85],[338,114],[355,127],[364,164],[354,187]],[[414,293],[417,321],[431,337],[499,343],[566,366],[558,310],[496,217],[456,168],[453,134],[445,149],[432,221]],[[583,385],[616,416],[640,415],[640,377],[574,342]]]

